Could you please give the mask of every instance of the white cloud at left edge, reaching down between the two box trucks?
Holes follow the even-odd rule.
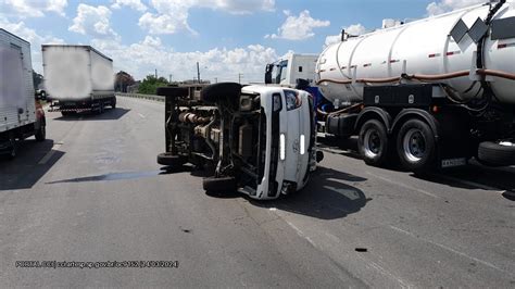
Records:
[[[30,42],[33,70],[42,74],[41,45],[63,45],[64,40],[51,35],[41,35],[27,27],[23,21],[11,23],[0,17],[0,27]]]

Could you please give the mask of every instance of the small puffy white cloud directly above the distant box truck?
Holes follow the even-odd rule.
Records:
[[[95,38],[116,38],[118,35],[111,28],[110,17],[111,10],[106,7],[79,4],[77,16],[73,20],[73,25],[68,27],[68,30]]]

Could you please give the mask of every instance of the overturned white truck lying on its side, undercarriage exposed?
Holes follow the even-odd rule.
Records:
[[[166,152],[158,163],[206,167],[206,191],[276,199],[302,189],[323,158],[305,91],[223,83],[163,87],[158,95],[166,97]]]

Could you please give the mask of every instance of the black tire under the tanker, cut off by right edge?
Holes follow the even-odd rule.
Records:
[[[479,143],[478,160],[489,166],[507,166],[515,164],[515,143],[501,144],[500,141]]]

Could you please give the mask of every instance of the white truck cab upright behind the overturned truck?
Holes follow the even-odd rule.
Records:
[[[266,65],[265,84],[294,87],[297,79],[313,85],[318,55],[288,53]]]

